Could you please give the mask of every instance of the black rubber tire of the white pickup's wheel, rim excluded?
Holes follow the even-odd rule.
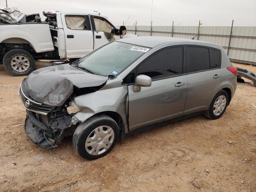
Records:
[[[24,68],[24,71],[18,72],[16,70],[14,70],[14,68],[12,68],[11,66],[11,62],[15,57],[18,56],[24,56],[22,58],[27,58],[28,62],[29,62],[29,66],[28,68]],[[3,65],[4,65],[4,69],[9,72],[11,75],[13,76],[24,76],[24,75],[28,75],[30,74],[34,68],[35,68],[35,60],[34,58],[31,56],[31,54],[25,50],[22,49],[13,49],[8,51],[3,58]]]

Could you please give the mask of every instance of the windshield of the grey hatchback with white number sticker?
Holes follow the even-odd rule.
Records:
[[[78,67],[104,76],[118,75],[149,48],[122,42],[112,42],[81,58]]]

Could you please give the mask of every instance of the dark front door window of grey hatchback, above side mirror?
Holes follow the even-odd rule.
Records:
[[[182,74],[183,47],[172,47],[156,52],[138,67],[138,75],[152,80]]]

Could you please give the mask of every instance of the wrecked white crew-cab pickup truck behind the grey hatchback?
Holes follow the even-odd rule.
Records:
[[[25,22],[0,17],[0,63],[14,76],[27,75],[38,60],[81,58],[113,40],[132,36],[98,12],[43,12],[45,21],[29,16]],[[1,14],[0,14],[1,16]],[[26,16],[26,15],[25,15]],[[30,18],[30,20],[29,20]],[[39,18],[39,20],[38,20]],[[12,18],[7,18],[12,20]],[[6,19],[6,21],[7,21]],[[34,20],[32,20],[34,19]]]

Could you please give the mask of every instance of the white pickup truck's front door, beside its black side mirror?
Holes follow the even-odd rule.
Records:
[[[106,18],[91,15],[91,22],[94,32],[94,50],[111,41],[120,39],[120,35],[114,34],[114,25]]]

